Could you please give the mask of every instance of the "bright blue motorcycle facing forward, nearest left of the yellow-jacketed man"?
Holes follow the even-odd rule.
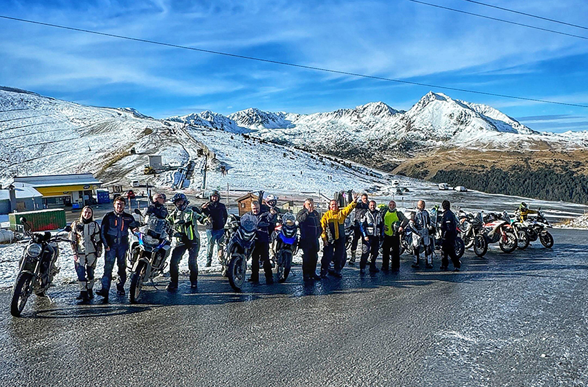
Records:
[[[272,243],[273,267],[277,274],[277,281],[284,282],[290,274],[292,257],[298,249],[298,227],[293,214],[282,216],[282,223],[275,227],[275,237]]]

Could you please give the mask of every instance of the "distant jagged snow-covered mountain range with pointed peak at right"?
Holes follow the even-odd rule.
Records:
[[[356,108],[313,114],[272,113],[248,108],[228,115],[228,121],[222,120],[221,115],[208,120],[210,114],[203,112],[172,120],[233,133],[251,131],[278,144],[308,147],[312,140],[317,149],[349,157],[432,147],[533,149],[539,147],[538,142],[542,147],[548,144],[558,149],[588,146],[588,135],[538,133],[491,106],[454,100],[433,92],[424,95],[409,111],[396,110],[383,102],[371,102]]]

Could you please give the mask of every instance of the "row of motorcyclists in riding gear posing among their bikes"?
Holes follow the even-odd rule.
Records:
[[[351,197],[350,197],[351,198]],[[385,272],[398,272],[400,268],[401,234],[410,229],[412,238],[412,267],[419,268],[421,253],[425,256],[425,267],[432,268],[432,251],[429,238],[432,225],[431,215],[425,209],[424,200],[419,200],[416,209],[410,216],[405,216],[396,209],[396,202],[390,200],[388,205],[378,209],[374,200],[369,200],[367,193],[362,193],[361,200],[356,194],[346,207],[340,208],[339,200],[329,202],[329,210],[322,216],[315,209],[312,198],[304,201],[304,207],[297,213],[296,220],[300,229],[299,247],[302,249],[302,274],[304,281],[324,279],[327,275],[340,278],[341,270],[347,261],[345,220],[353,210],[353,234],[351,240],[351,256],[349,265],[356,261],[356,250],[361,240],[360,273],[364,273],[369,261],[369,272],[379,272],[376,259],[383,250],[381,269]],[[200,250],[200,237],[197,223],[206,225],[208,239],[206,266],[212,265],[214,245],[221,251],[224,236],[224,225],[228,219],[228,211],[220,202],[219,191],[210,193],[209,201],[200,207],[191,207],[185,194],[176,193],[171,202],[174,210],[168,213],[165,205],[166,197],[163,193],[152,196],[151,205],[143,212],[144,216],[156,216],[167,220],[169,235],[175,240],[169,263],[169,284],[167,290],[178,288],[178,265],[187,252],[188,267],[190,269],[190,286],[198,286],[197,258]],[[104,215],[102,227],[93,220],[91,207],[84,207],[79,220],[72,223],[71,240],[74,252],[75,272],[80,285],[80,295],[77,299],[88,301],[93,298],[94,270],[98,257],[104,246],[104,275],[102,287],[96,294],[108,302],[112,281],[114,263],[118,265],[118,281],[116,292],[125,294],[127,279],[127,250],[129,249],[129,230],[136,232],[139,223],[125,212],[125,199],[118,197],[114,200],[113,211]],[[273,283],[272,266],[269,259],[270,243],[273,227],[279,222],[276,207],[277,198],[268,195],[264,202],[253,201],[251,211],[241,217],[241,222],[252,222],[256,227],[255,247],[251,258],[251,274],[248,281],[259,282],[260,265],[264,269],[266,283]],[[454,250],[457,238],[457,218],[450,209],[450,202],[443,200],[441,216],[441,270],[448,270],[448,258],[451,258],[454,271],[459,271],[461,262]],[[535,211],[526,205],[520,206],[517,215],[524,218]],[[318,252],[322,239],[322,260],[320,273],[316,272]]]

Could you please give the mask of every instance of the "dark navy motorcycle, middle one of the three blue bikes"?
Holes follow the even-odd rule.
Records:
[[[219,261],[223,267],[222,275],[228,278],[231,287],[237,292],[241,290],[245,281],[247,261],[255,247],[256,231],[253,222],[239,222],[237,216],[229,215]]]

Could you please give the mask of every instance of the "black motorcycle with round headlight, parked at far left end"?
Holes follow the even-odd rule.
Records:
[[[19,274],[12,287],[10,314],[15,317],[21,315],[30,294],[35,292],[37,296],[46,296],[45,292],[51,285],[53,276],[59,273],[59,267],[55,266],[59,257],[58,242],[72,243],[72,240],[61,234],[71,232],[69,226],[52,236],[50,232],[30,232],[31,227],[24,217],[20,218],[20,223],[24,225],[24,234],[30,237],[30,241],[24,248],[19,262]]]

